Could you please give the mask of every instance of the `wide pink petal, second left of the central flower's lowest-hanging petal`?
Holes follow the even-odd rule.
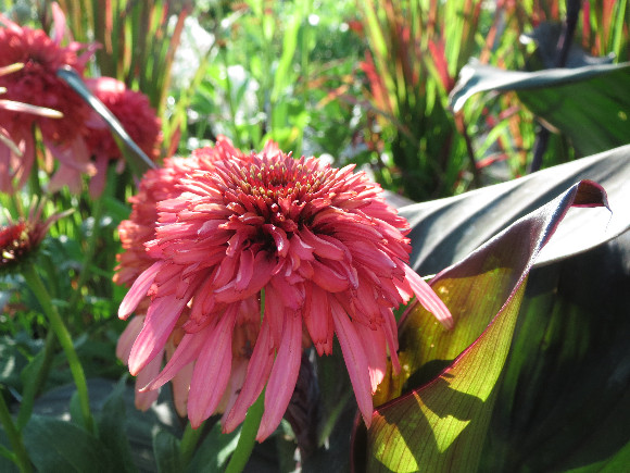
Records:
[[[229,381],[236,315],[237,306],[232,304],[212,329],[194,364],[188,395],[188,419],[192,428],[198,428],[216,410]]]

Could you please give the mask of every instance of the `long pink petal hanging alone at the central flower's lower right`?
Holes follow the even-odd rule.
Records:
[[[341,346],[345,368],[348,368],[348,374],[354,388],[356,403],[358,404],[358,410],[363,415],[365,425],[369,427],[371,423],[373,403],[367,357],[354,325],[337,299],[330,298],[330,309],[332,312],[332,321],[335,322],[335,333]]]

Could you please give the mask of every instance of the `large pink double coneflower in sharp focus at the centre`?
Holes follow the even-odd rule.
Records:
[[[175,173],[168,186],[176,191],[156,202],[154,238],[144,242],[151,265],[118,311],[125,319],[150,298],[129,371],[141,373],[181,331],[144,390],[192,366],[191,425],[222,411],[230,432],[266,386],[263,440],[293,393],[303,339],[323,356],[332,353],[336,335],[369,425],[388,354],[400,370],[392,309],[415,294],[452,323],[407,265],[407,222],[353,165],[333,169],[268,148],[207,167]]]

